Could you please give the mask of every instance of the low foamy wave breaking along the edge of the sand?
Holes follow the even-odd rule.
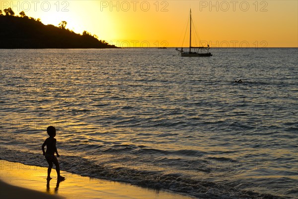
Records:
[[[1,147],[0,159],[23,164],[47,167],[43,156],[30,152],[19,152]],[[185,153],[185,151],[180,151]],[[187,152],[187,151],[186,151]],[[279,196],[260,194],[242,190],[223,182],[208,182],[204,179],[190,178],[182,173],[165,173],[161,170],[150,171],[138,168],[112,168],[86,158],[66,155],[60,158],[63,170],[113,181],[127,182],[142,187],[161,189],[205,199],[282,199]],[[45,171],[46,172],[46,171]],[[45,174],[46,175],[46,174]]]

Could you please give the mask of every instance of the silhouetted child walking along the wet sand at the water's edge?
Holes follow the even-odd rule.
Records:
[[[46,157],[47,162],[49,163],[49,168],[48,168],[48,178],[47,180],[51,180],[52,178],[50,177],[53,163],[56,166],[56,171],[57,171],[57,178],[59,181],[65,180],[64,177],[60,176],[60,166],[57,158],[55,157],[55,152],[57,154],[57,157],[60,155],[58,154],[57,148],[56,148],[56,139],[54,138],[56,136],[56,129],[55,127],[49,126],[47,128],[47,133],[50,135],[45,142],[42,144],[42,152],[43,155]],[[47,151],[45,152],[45,146],[47,145]]]

